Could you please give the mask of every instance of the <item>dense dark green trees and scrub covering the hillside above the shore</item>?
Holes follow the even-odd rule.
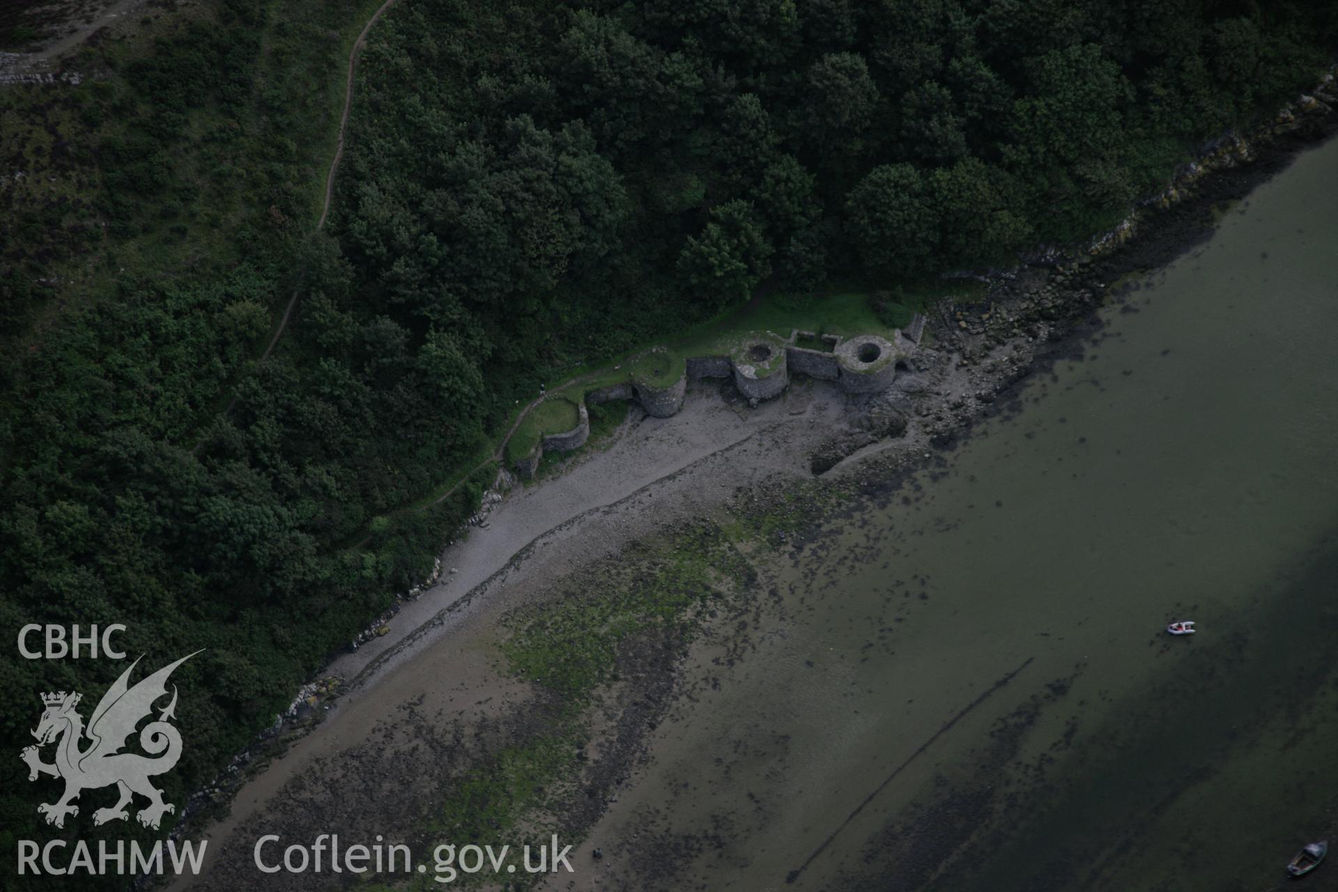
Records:
[[[205,0],[0,88],[0,614],[207,649],[171,801],[421,576],[479,481],[401,508],[541,381],[763,284],[900,324],[898,284],[1100,229],[1338,35],[1318,0],[401,0],[313,234],[376,5]],[[0,663],[9,752],[119,669]],[[40,839],[3,765],[0,843]]]

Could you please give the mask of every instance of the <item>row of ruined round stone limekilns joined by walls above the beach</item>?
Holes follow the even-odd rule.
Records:
[[[918,316],[907,332],[918,336],[923,324],[923,317]],[[792,372],[835,381],[846,393],[878,393],[892,384],[917,342],[918,337],[913,340],[900,330],[892,333],[891,341],[878,334],[842,338],[797,329],[788,338],[771,332],[753,333],[725,354],[689,357],[673,384],[658,386],[632,376],[628,381],[587,392],[585,403],[578,404],[581,420],[577,427],[541,437],[530,455],[515,463],[515,468],[523,477],[533,477],[545,452],[567,452],[585,445],[590,436],[586,403],[634,400],[646,415],[668,419],[682,408],[689,380],[733,378],[739,392],[756,404],[780,396],[789,385]]]

